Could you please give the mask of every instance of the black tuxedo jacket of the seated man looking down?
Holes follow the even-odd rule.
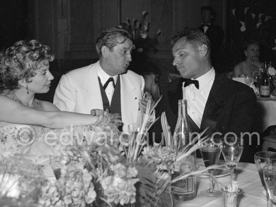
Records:
[[[177,122],[178,100],[182,99],[182,83],[182,78],[174,80],[168,85],[167,92],[164,94],[166,117],[172,133]],[[201,132],[209,127],[206,135],[221,133],[215,137],[223,137],[228,132],[235,133],[237,137],[240,137],[243,132],[251,133],[255,102],[256,96],[252,88],[216,73],[204,108],[200,129],[189,117],[192,131]],[[245,161],[248,153],[248,137],[243,136],[243,138],[245,138],[244,152],[240,161]]]

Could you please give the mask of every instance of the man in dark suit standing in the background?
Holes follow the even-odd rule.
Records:
[[[221,69],[221,51],[224,32],[221,27],[214,25],[216,18],[216,12],[209,6],[201,7],[201,20],[202,24],[199,27],[200,31],[203,32],[209,38],[211,42],[211,61],[216,70]]]

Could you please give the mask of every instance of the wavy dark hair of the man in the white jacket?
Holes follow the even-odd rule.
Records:
[[[123,37],[123,41],[117,42],[116,38]],[[102,56],[101,48],[106,46],[109,50],[112,51],[112,48],[117,44],[123,44],[126,39],[131,40],[129,33],[120,28],[109,28],[104,30],[96,40],[96,50],[99,57]]]

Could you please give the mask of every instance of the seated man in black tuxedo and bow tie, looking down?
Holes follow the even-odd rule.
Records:
[[[178,100],[187,99],[189,121],[193,132],[207,127],[208,136],[223,137],[251,132],[256,96],[245,84],[219,75],[210,60],[210,41],[196,28],[186,29],[173,38],[173,65],[182,78],[168,85],[164,94],[165,111],[171,131],[178,116]],[[192,80],[192,81],[191,81]],[[185,84],[185,83],[189,83]],[[197,88],[198,87],[198,88]],[[220,133],[220,134],[218,134]],[[243,136],[246,161],[248,137]]]

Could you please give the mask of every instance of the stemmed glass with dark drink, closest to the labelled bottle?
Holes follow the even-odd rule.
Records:
[[[219,156],[221,153],[221,141],[220,139],[210,139],[209,141],[203,143],[201,146],[200,153],[203,158],[205,167],[208,167],[213,164],[217,164],[219,160]],[[204,189],[200,191],[200,193],[204,196],[208,197],[216,197],[222,194],[220,190],[216,190],[213,188],[213,173],[215,169],[209,169],[208,172],[210,173],[209,177],[209,189]]]

